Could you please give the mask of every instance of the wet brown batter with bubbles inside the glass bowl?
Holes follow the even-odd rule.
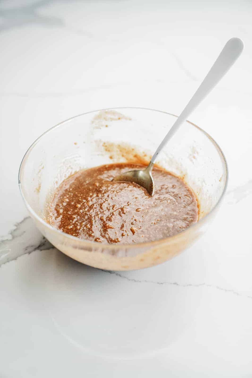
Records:
[[[162,239],[196,223],[195,195],[165,170],[153,169],[153,197],[135,183],[111,181],[120,173],[143,168],[119,163],[77,172],[57,189],[48,222],[80,239],[125,244]]]

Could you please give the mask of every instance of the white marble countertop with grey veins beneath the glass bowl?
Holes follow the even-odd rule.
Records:
[[[0,2],[0,376],[252,376],[252,3]],[[79,113],[179,113],[230,37],[245,50],[191,121],[229,164],[209,231],[153,268],[105,272],[27,217],[22,157]]]

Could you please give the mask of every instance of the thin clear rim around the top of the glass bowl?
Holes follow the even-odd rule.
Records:
[[[38,220],[40,223],[42,223],[43,226],[45,226],[46,228],[48,228],[50,231],[53,231],[53,232],[56,232],[56,233],[59,233],[59,235],[64,235],[65,237],[67,237],[68,239],[70,240],[73,240],[74,242],[78,242],[79,244],[79,247],[81,248],[82,245],[83,247],[85,245],[93,245],[93,246],[97,246],[97,242],[94,242],[94,241],[91,241],[91,240],[85,240],[85,239],[80,239],[78,238],[77,236],[73,236],[73,235],[70,235],[70,234],[66,234],[65,232],[57,229],[57,228],[54,228],[53,226],[51,226],[49,223],[45,222],[45,220],[43,220],[33,209],[32,207],[29,205],[29,203],[26,201],[26,198],[25,198],[25,195],[22,191],[22,187],[21,187],[21,174],[22,174],[22,168],[23,168],[23,164],[25,163],[25,159],[26,157],[28,156],[29,152],[33,149],[34,146],[36,146],[36,144],[40,141],[40,139],[42,139],[42,137],[45,135],[45,134],[48,134],[50,131],[54,130],[54,129],[57,129],[58,127],[60,127],[61,125],[63,124],[66,124],[67,122],[70,122],[72,121],[74,118],[77,118],[77,117],[81,117],[83,115],[86,115],[86,114],[90,114],[90,113],[97,113],[97,112],[102,112],[102,111],[106,111],[106,110],[119,110],[119,109],[139,109],[139,110],[151,110],[153,112],[159,112],[159,113],[164,113],[164,114],[167,114],[167,115],[170,115],[170,116],[173,116],[173,117],[176,117],[178,118],[177,115],[173,114],[173,113],[168,113],[168,112],[165,112],[163,110],[156,110],[156,109],[152,109],[152,108],[143,108],[143,107],[111,107],[111,108],[105,108],[105,109],[98,109],[98,110],[91,110],[90,112],[85,112],[85,113],[81,113],[81,114],[78,114],[76,116],[73,116],[71,118],[68,118],[68,119],[65,119],[64,121],[62,122],[59,122],[58,124],[54,125],[53,127],[50,127],[48,130],[46,130],[43,134],[41,134],[32,144],[31,146],[28,148],[28,150],[26,151],[25,155],[23,156],[22,158],[22,161],[20,163],[20,167],[19,167],[19,175],[18,175],[18,180],[19,180],[19,190],[20,190],[20,193],[21,193],[21,196],[23,198],[23,201],[25,203],[25,206],[26,208],[28,209],[28,211],[32,214],[32,216]],[[229,178],[229,171],[228,171],[228,166],[227,166],[227,160],[226,160],[226,157],[222,151],[222,149],[220,148],[220,146],[218,145],[218,143],[216,143],[216,141],[212,138],[212,136],[210,136],[206,131],[204,131],[203,129],[201,129],[201,127],[199,127],[198,125],[194,124],[193,122],[191,121],[188,121],[186,120],[186,122],[190,123],[191,125],[193,125],[194,127],[196,127],[199,131],[201,131],[204,135],[207,136],[207,138],[210,140],[210,142],[213,144],[213,146],[215,147],[215,149],[217,150],[217,152],[219,153],[220,155],[220,158],[223,160],[223,163],[224,163],[224,169],[226,170],[226,183],[224,185],[224,188],[223,188],[223,192],[221,193],[220,195],[220,198],[218,199],[218,201],[216,202],[215,206],[209,211],[209,213],[207,213],[203,218],[199,219],[197,223],[194,223],[193,225],[191,225],[190,227],[186,228],[185,230],[181,231],[181,232],[178,232],[177,234],[175,235],[172,235],[172,236],[168,236],[168,237],[165,237],[165,238],[162,238],[162,239],[158,239],[158,240],[153,240],[152,242],[141,242],[141,243],[135,243],[135,244],[124,244],[124,243],[119,243],[119,244],[104,244],[102,243],[102,245],[100,245],[99,243],[99,246],[101,248],[107,248],[107,249],[112,249],[112,250],[115,250],[115,249],[118,249],[119,247],[125,247],[127,249],[134,249],[134,248],[141,248],[141,247],[144,247],[144,246],[155,246],[159,243],[165,243],[167,242],[168,240],[172,240],[172,239],[175,239],[176,237],[178,237],[178,235],[181,235],[181,234],[184,234],[186,233],[188,230],[192,230],[192,228],[194,228],[195,226],[199,225],[200,223],[203,222],[203,220],[206,220],[207,218],[209,218],[209,215],[212,214],[212,212],[216,209],[216,207],[218,207],[218,205],[221,203],[221,201],[223,200],[223,197],[224,197],[224,194],[226,192],[226,189],[227,189],[227,183],[228,183],[228,178]],[[85,248],[83,248],[85,249]]]

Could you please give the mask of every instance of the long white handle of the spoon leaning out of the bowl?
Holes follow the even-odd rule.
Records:
[[[230,67],[234,64],[235,60],[240,56],[243,51],[243,41],[239,38],[231,38],[227,41],[220,55],[216,59],[213,67],[210,69],[209,73],[196,90],[193,97],[190,99],[189,103],[186,105],[181,115],[176,119],[174,125],[169,130],[165,138],[159,144],[156,152],[152,156],[151,163],[154,163],[159,152],[165,146],[165,144],[172,138],[176,133],[179,126],[186,121],[188,116],[193,112],[193,110],[201,103],[201,101],[210,93],[210,91],[215,87],[216,84],[221,80],[221,78],[227,73]]]

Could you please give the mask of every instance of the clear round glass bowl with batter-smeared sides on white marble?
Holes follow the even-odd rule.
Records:
[[[19,169],[19,186],[37,228],[60,251],[105,270],[147,268],[176,256],[202,235],[227,186],[227,163],[204,130],[184,122],[156,163],[181,177],[199,202],[199,221],[175,236],[131,245],[100,244],[65,234],[46,222],[46,204],[56,187],[77,170],[102,164],[146,164],[176,119],[144,108],[97,110],[68,119],[41,135]]]

